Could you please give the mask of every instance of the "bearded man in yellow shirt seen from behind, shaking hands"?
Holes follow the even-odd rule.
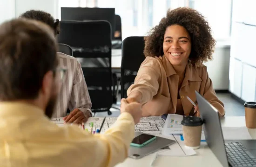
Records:
[[[0,167],[111,167],[124,161],[141,118],[139,103],[121,101],[104,135],[58,127],[52,116],[60,79],[54,33],[14,19],[0,25]],[[64,76],[65,77],[65,76]]]

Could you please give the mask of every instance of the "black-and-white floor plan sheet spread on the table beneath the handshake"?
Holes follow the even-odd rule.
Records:
[[[90,129],[90,122],[94,123],[94,129],[100,128],[104,117],[89,117],[88,121],[84,123],[85,128]],[[108,128],[110,128],[117,120],[117,117],[106,117],[104,125],[101,129],[101,133],[104,133]],[[52,118],[52,122],[56,123],[58,126],[63,126],[63,118]],[[164,126],[164,121],[161,116],[149,116],[142,117],[140,122],[135,125],[135,131],[142,132],[150,135],[162,135],[162,128]]]

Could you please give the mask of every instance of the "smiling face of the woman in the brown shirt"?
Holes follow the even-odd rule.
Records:
[[[164,55],[171,64],[187,64],[191,52],[191,39],[189,32],[184,27],[179,25],[168,26],[162,46]]]

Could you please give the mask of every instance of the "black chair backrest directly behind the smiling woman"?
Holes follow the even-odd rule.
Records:
[[[134,83],[137,72],[144,61],[144,37],[128,37],[122,42],[121,98],[127,97],[127,90]]]

